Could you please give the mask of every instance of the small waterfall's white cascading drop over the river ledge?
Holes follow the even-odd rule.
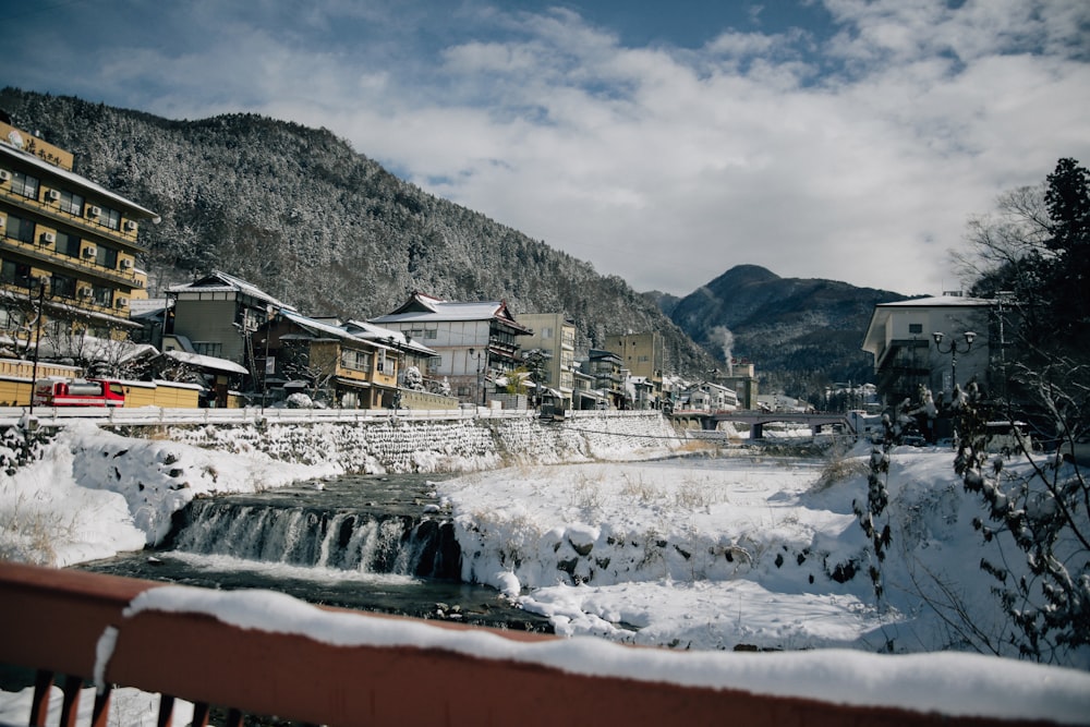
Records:
[[[177,518],[173,549],[246,560],[458,580],[449,522],[362,510],[197,499]]]

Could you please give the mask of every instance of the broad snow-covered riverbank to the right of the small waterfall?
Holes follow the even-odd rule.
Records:
[[[988,651],[986,635],[1017,656],[1002,643],[1009,625],[979,567],[970,523],[982,507],[964,494],[949,450],[894,452],[893,552],[882,564],[886,596],[875,597],[852,512],[865,498],[868,451],[821,483],[815,461],[739,457],[524,468],[437,488],[455,517],[463,579],[500,589],[559,633],[895,653]],[[1090,668],[1087,650],[1068,657]]]

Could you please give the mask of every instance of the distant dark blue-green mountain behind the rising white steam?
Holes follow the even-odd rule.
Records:
[[[758,374],[770,377],[766,388],[819,404],[829,384],[871,380],[874,362],[859,348],[871,314],[879,303],[905,299],[739,265],[680,301],[654,300],[698,343],[755,362]]]

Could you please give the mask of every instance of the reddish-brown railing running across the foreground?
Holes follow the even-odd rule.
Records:
[[[555,653],[552,646],[562,647],[562,641],[511,631],[483,630],[492,635],[482,635],[474,629],[456,634],[446,629],[467,627],[335,609],[313,609],[317,616],[311,616],[306,606],[291,628],[263,630],[232,626],[230,619],[199,609],[133,607],[137,596],[147,599],[178,592],[153,592],[162,585],[0,561],[0,663],[29,667],[39,675],[29,724],[45,724],[49,687],[58,675],[64,693],[61,725],[74,724],[85,679],[101,686],[94,705],[95,726],[106,724],[111,684],[162,694],[160,725],[170,724],[175,698],[195,704],[194,725],[208,723],[209,705],[227,710],[227,724],[232,725],[242,723],[243,713],[304,724],[379,726],[1046,724],[572,674],[548,658],[519,656],[520,649]],[[190,592],[221,598],[238,595]],[[361,625],[380,638],[370,643],[346,643],[351,639],[340,638],[358,633]],[[425,638],[413,644],[382,638],[407,628],[423,630]],[[459,638],[504,641],[491,642],[500,645],[482,656],[449,645]],[[647,654],[634,647],[631,652],[633,658],[641,653]],[[770,679],[776,675],[770,674]]]

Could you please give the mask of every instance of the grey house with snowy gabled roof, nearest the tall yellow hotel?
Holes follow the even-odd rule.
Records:
[[[218,270],[172,286],[167,299],[162,349],[227,359],[250,371],[254,369],[254,331],[276,311],[295,311],[256,286]]]

